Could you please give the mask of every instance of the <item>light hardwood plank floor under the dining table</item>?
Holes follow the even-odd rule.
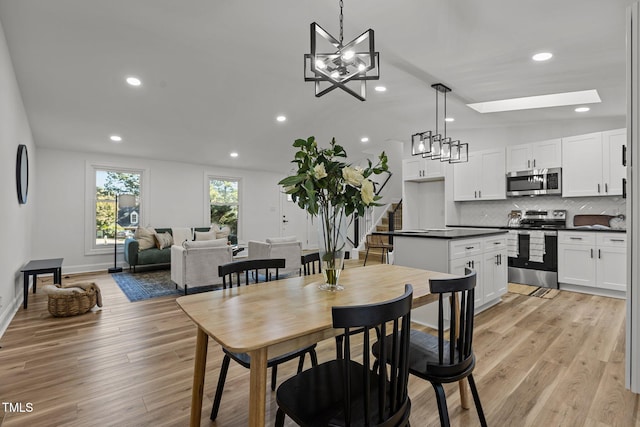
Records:
[[[46,295],[31,294],[0,339],[0,401],[33,405],[4,422],[0,406],[0,424],[188,425],[193,323],[174,297],[130,303],[106,273],[64,277],[84,280],[102,289],[101,310],[53,318]],[[640,399],[624,388],[624,318],[624,301],[564,291],[554,299],[507,294],[478,315],[474,377],[489,425],[640,426]],[[318,350],[320,361],[335,357],[333,341]],[[218,420],[209,421],[221,360],[211,341],[202,425],[246,425],[249,371],[233,363]],[[296,365],[282,365],[279,382]],[[430,384],[409,385],[411,424],[439,425]],[[460,409],[457,387],[446,392],[452,425],[479,425],[473,407]],[[271,424],[275,393],[267,399]]]

